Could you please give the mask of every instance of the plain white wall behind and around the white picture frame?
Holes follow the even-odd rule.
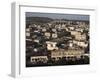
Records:
[[[10,77],[11,67],[11,2],[23,0],[1,0],[0,2],[0,80],[13,80]],[[98,80],[100,79],[100,5],[99,0],[24,0],[24,2],[33,2],[33,4],[49,4],[49,5],[78,5],[78,6],[94,6],[97,8],[97,23],[96,23],[96,36],[95,50],[98,53],[98,71],[96,73],[73,73],[65,74],[62,76],[36,76],[29,78],[21,78],[22,80]],[[21,80],[19,78],[19,80]]]

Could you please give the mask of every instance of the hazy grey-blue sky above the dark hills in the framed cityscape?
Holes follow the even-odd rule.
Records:
[[[48,17],[52,19],[69,19],[69,20],[89,21],[89,15],[79,15],[79,14],[76,15],[76,14],[26,12],[26,17]]]

